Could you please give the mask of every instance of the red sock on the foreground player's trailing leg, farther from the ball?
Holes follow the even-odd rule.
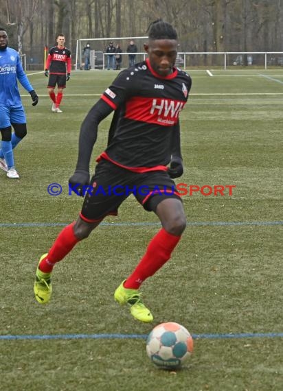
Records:
[[[71,251],[73,246],[80,241],[73,233],[73,225],[74,223],[69,224],[69,226],[61,230],[52,248],[50,248],[47,257],[39,264],[41,272],[52,272],[54,264],[61,261]]]

